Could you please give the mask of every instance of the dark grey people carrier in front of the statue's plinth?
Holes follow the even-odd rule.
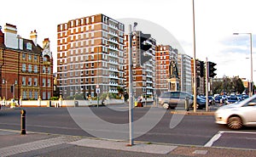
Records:
[[[176,109],[177,105],[185,107],[185,100],[189,99],[188,108],[194,107],[193,95],[185,92],[165,92],[160,94],[159,103],[164,109]],[[206,107],[206,100],[196,98],[196,107],[202,109]]]

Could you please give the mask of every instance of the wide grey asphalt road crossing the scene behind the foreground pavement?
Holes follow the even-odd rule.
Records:
[[[24,108],[26,131],[84,137],[129,139],[127,106],[90,108]],[[232,131],[212,115],[172,115],[160,108],[134,109],[134,137],[148,143],[173,143],[256,149],[256,128]],[[146,129],[145,129],[146,128]],[[20,130],[20,109],[2,109],[0,129]]]

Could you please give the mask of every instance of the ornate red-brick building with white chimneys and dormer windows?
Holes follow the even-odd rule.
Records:
[[[53,59],[49,39],[43,48],[37,43],[37,31],[30,39],[17,35],[16,25],[0,28],[0,96],[3,98],[49,99],[53,94]]]

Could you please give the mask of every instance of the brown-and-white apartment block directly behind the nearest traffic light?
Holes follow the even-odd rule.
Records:
[[[142,37],[148,36],[147,40],[142,42]],[[142,31],[132,32],[132,76],[133,92],[137,98],[139,96],[152,97],[155,93],[155,48],[156,40],[150,34],[143,34]],[[150,45],[150,48],[143,52],[143,45]],[[129,52],[128,35],[125,35],[125,92],[129,91]],[[142,55],[141,55],[142,54]],[[143,55],[151,56],[143,65],[140,64]]]

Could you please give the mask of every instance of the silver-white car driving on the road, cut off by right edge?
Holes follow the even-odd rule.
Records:
[[[256,94],[236,104],[219,107],[215,112],[217,124],[224,124],[230,129],[242,126],[256,126]]]

